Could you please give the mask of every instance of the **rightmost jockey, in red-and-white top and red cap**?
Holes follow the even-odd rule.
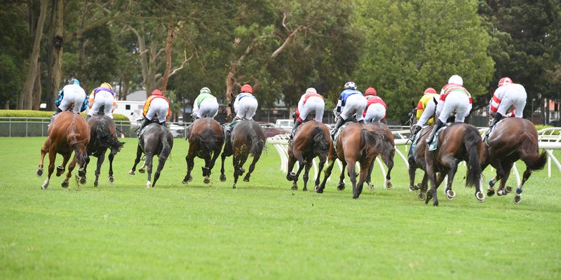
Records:
[[[526,90],[522,85],[513,83],[511,78],[501,78],[499,80],[499,88],[495,90],[491,106],[489,106],[489,115],[494,115],[494,118],[491,126],[489,126],[489,130],[485,133],[485,137],[491,133],[493,127],[506,115],[506,111],[511,106],[515,107],[515,118],[522,118],[522,112],[526,106],[526,97]]]

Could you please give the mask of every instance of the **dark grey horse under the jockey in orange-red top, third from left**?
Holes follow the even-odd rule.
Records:
[[[156,186],[156,181],[160,178],[160,173],[165,165],[165,160],[168,160],[172,148],[173,135],[170,130],[158,123],[150,123],[144,128],[144,132],[141,132],[140,134],[136,149],[135,163],[133,165],[133,169],[130,169],[128,174],[135,174],[136,165],[138,165],[138,162],[140,162],[140,158],[142,157],[142,153],[144,153],[144,155],[146,155],[146,161],[138,172],[144,173],[144,167],[147,167],[148,181],[146,182],[146,187],[150,188],[150,186],[152,186],[152,188],[154,188],[154,186]],[[154,183],[150,183],[152,174],[152,158],[154,158],[154,155],[158,156],[158,168],[154,174]]]

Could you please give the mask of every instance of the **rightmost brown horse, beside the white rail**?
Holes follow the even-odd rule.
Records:
[[[482,169],[491,165],[496,169],[496,176],[489,181],[487,195],[495,193],[493,188],[496,181],[501,180],[497,195],[511,193],[512,188],[506,187],[508,175],[514,162],[522,160],[526,170],[522,175],[522,182],[516,189],[514,202],[520,203],[522,199],[522,186],[532,175],[532,171],[543,169],[547,162],[547,154],[539,153],[538,132],[529,120],[524,118],[506,118],[496,124],[494,130],[489,134],[487,143],[482,144]]]

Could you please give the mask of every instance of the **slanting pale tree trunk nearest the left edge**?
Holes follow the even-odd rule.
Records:
[[[43,38],[43,25],[47,13],[48,0],[41,0],[41,11],[39,13],[39,20],[35,28],[35,39],[33,42],[33,49],[31,53],[31,60],[29,61],[29,69],[27,70],[27,78],[23,84],[23,89],[20,96],[19,109],[32,109],[33,106],[33,87],[35,79],[37,78],[37,70],[39,69],[39,53],[41,52],[41,38]]]

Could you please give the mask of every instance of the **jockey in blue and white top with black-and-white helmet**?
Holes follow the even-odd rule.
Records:
[[[343,87],[341,95],[339,95],[339,100],[337,101],[337,107],[334,110],[335,117],[339,117],[334,129],[331,132],[331,138],[334,138],[335,133],[353,114],[356,114],[356,120],[358,123],[364,123],[363,111],[366,109],[367,100],[366,97],[356,90],[356,83],[347,82]]]

